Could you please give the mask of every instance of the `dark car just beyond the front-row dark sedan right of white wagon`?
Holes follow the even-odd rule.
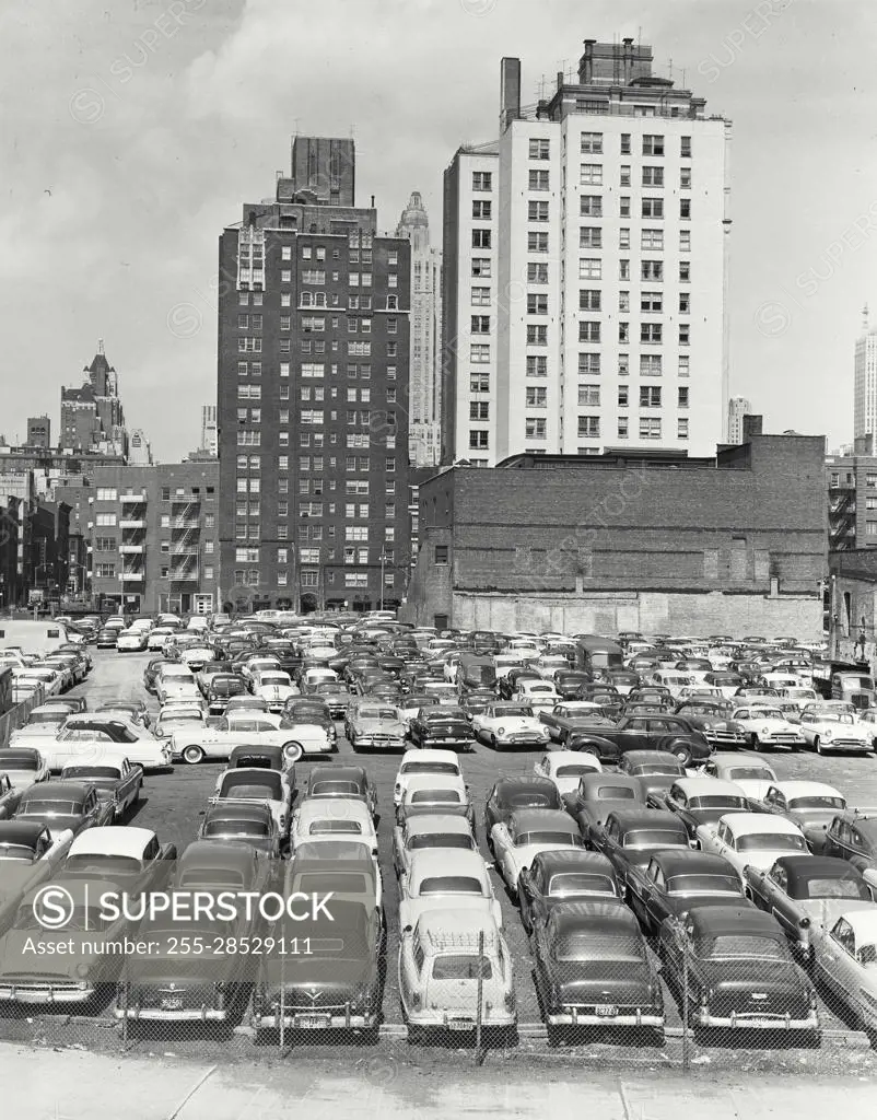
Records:
[[[621,898],[615,868],[595,851],[557,848],[538,852],[517,878],[521,924],[530,934],[561,903]]]

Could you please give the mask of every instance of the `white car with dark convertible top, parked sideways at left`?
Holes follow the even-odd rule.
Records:
[[[131,720],[103,717],[95,712],[71,716],[54,739],[29,744],[13,736],[10,746],[36,746],[50,771],[60,772],[97,754],[116,754],[143,769],[167,769],[170,750],[146,728]]]

